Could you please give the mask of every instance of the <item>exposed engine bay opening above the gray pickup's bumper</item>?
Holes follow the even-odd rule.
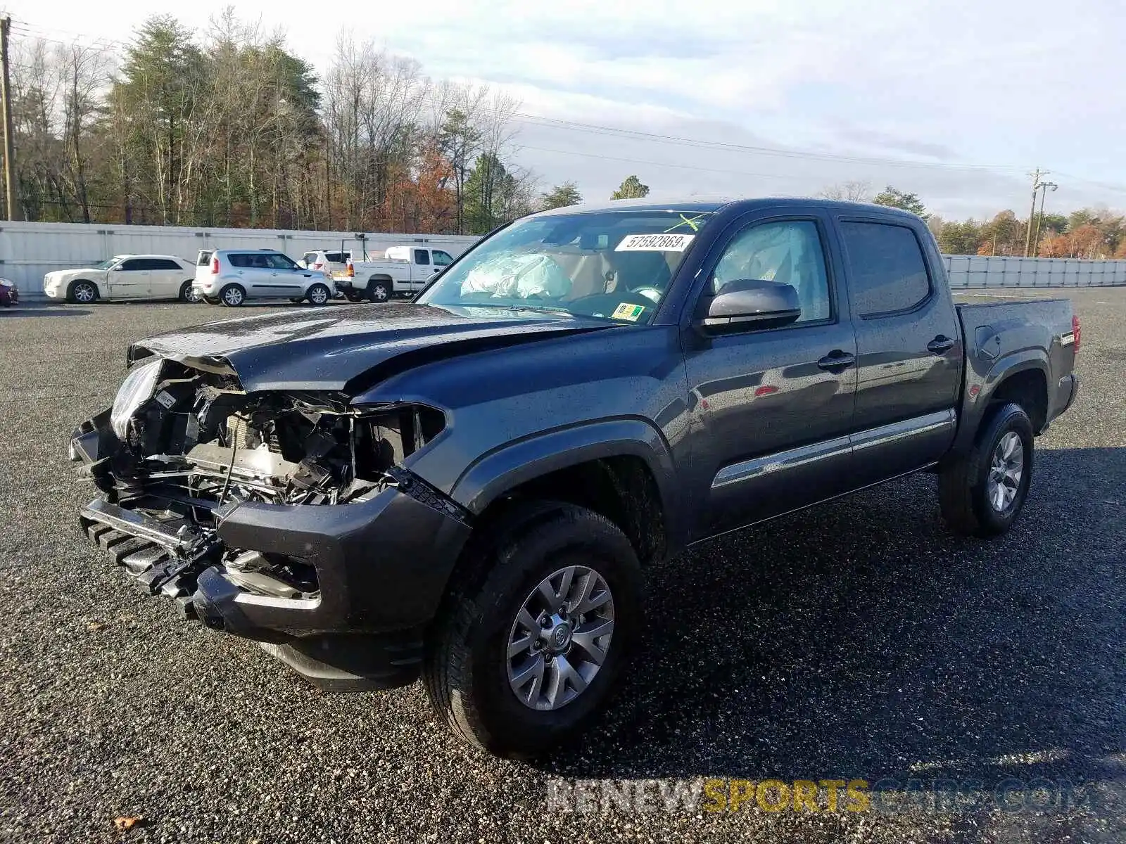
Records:
[[[124,448],[102,491],[122,504],[166,499],[206,522],[232,501],[366,500],[445,420],[419,405],[351,407],[342,394],[248,394],[232,376],[158,358],[129,372],[110,424]]]

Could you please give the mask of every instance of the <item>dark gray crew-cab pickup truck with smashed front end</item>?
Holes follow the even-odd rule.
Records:
[[[580,206],[413,303],[135,343],[71,458],[89,537],[184,618],[329,689],[421,675],[524,755],[606,704],[654,560],[919,470],[950,530],[1008,530],[1079,345],[1066,300],[956,306],[903,212]]]

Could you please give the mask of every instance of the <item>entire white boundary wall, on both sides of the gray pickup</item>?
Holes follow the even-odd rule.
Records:
[[[83,223],[0,223],[0,277],[19,286],[20,298],[43,299],[43,276],[89,267],[117,254],[172,254],[193,263],[200,249],[280,249],[293,259],[313,249],[358,249],[357,232],[274,228],[185,228]],[[420,243],[459,255],[474,235],[365,233],[369,252]],[[1126,285],[1126,261],[1074,258],[944,255],[954,288],[1111,287]]]

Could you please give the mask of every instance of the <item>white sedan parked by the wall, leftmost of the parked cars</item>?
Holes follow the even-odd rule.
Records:
[[[176,255],[114,255],[92,267],[48,272],[43,277],[43,293],[83,304],[99,299],[196,302],[191,277],[191,264]]]

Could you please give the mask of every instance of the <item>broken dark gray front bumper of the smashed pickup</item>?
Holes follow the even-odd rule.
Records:
[[[422,630],[470,533],[458,505],[396,467],[394,485],[347,504],[172,508],[141,499],[123,506],[109,474],[118,446],[108,412],[74,432],[71,459],[104,492],[80,521],[145,592],[175,601],[182,618],[262,643],[323,688],[393,688],[417,677]],[[206,522],[185,505],[187,513],[211,508]],[[234,553],[240,563],[256,555],[292,563],[312,573],[310,585],[287,589],[267,566],[234,567]]]

